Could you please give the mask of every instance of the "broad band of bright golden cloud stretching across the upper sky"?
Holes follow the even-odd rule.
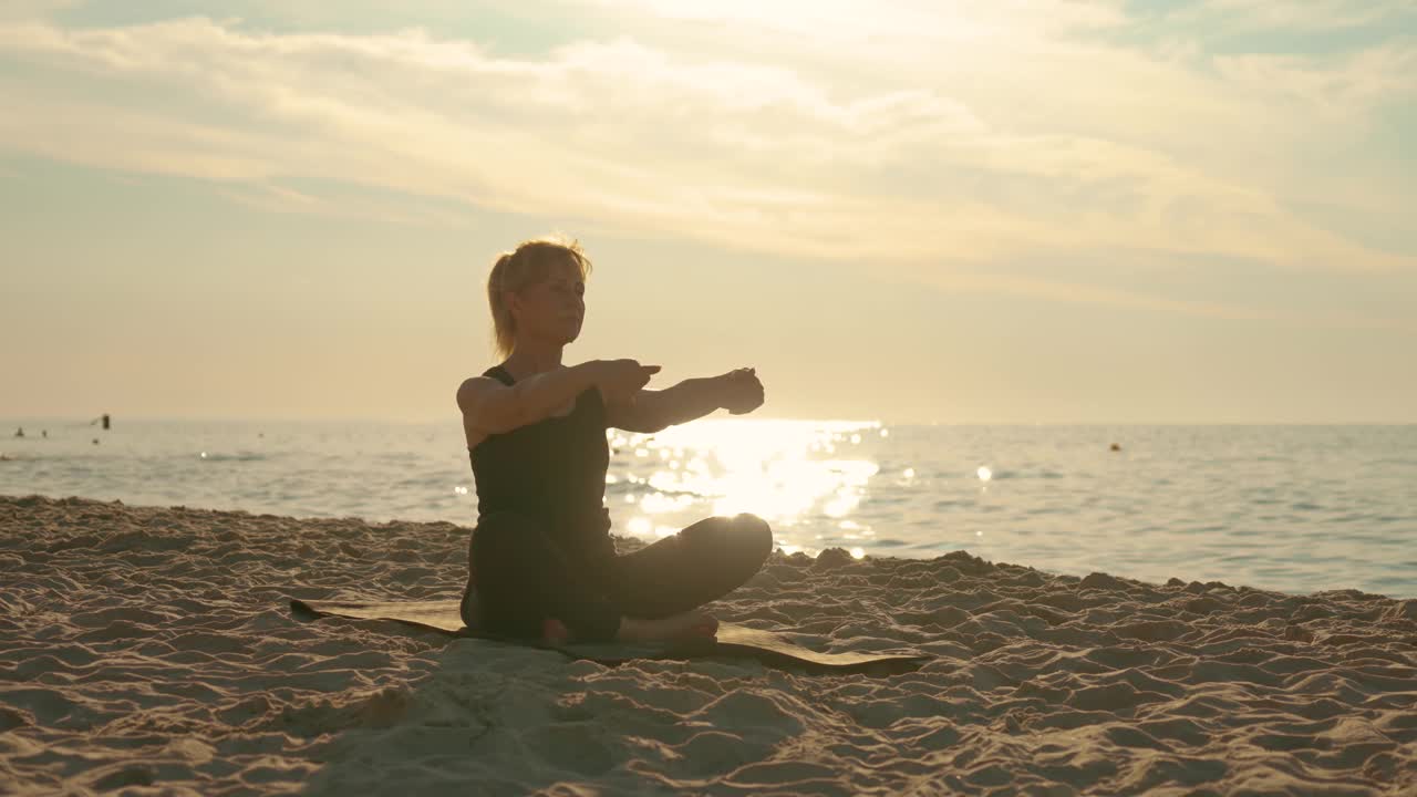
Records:
[[[784,44],[714,57],[622,37],[512,58],[421,30],[11,23],[0,60],[43,79],[0,79],[17,111],[0,146],[214,180],[296,213],[340,213],[339,191],[300,186],[347,183],[932,275],[1101,250],[1411,265],[1295,216],[1284,193],[1302,147],[1348,146],[1410,94],[1400,43],[1340,58],[1156,54],[1094,38],[1125,27],[1119,6],[1061,0],[626,9]]]

